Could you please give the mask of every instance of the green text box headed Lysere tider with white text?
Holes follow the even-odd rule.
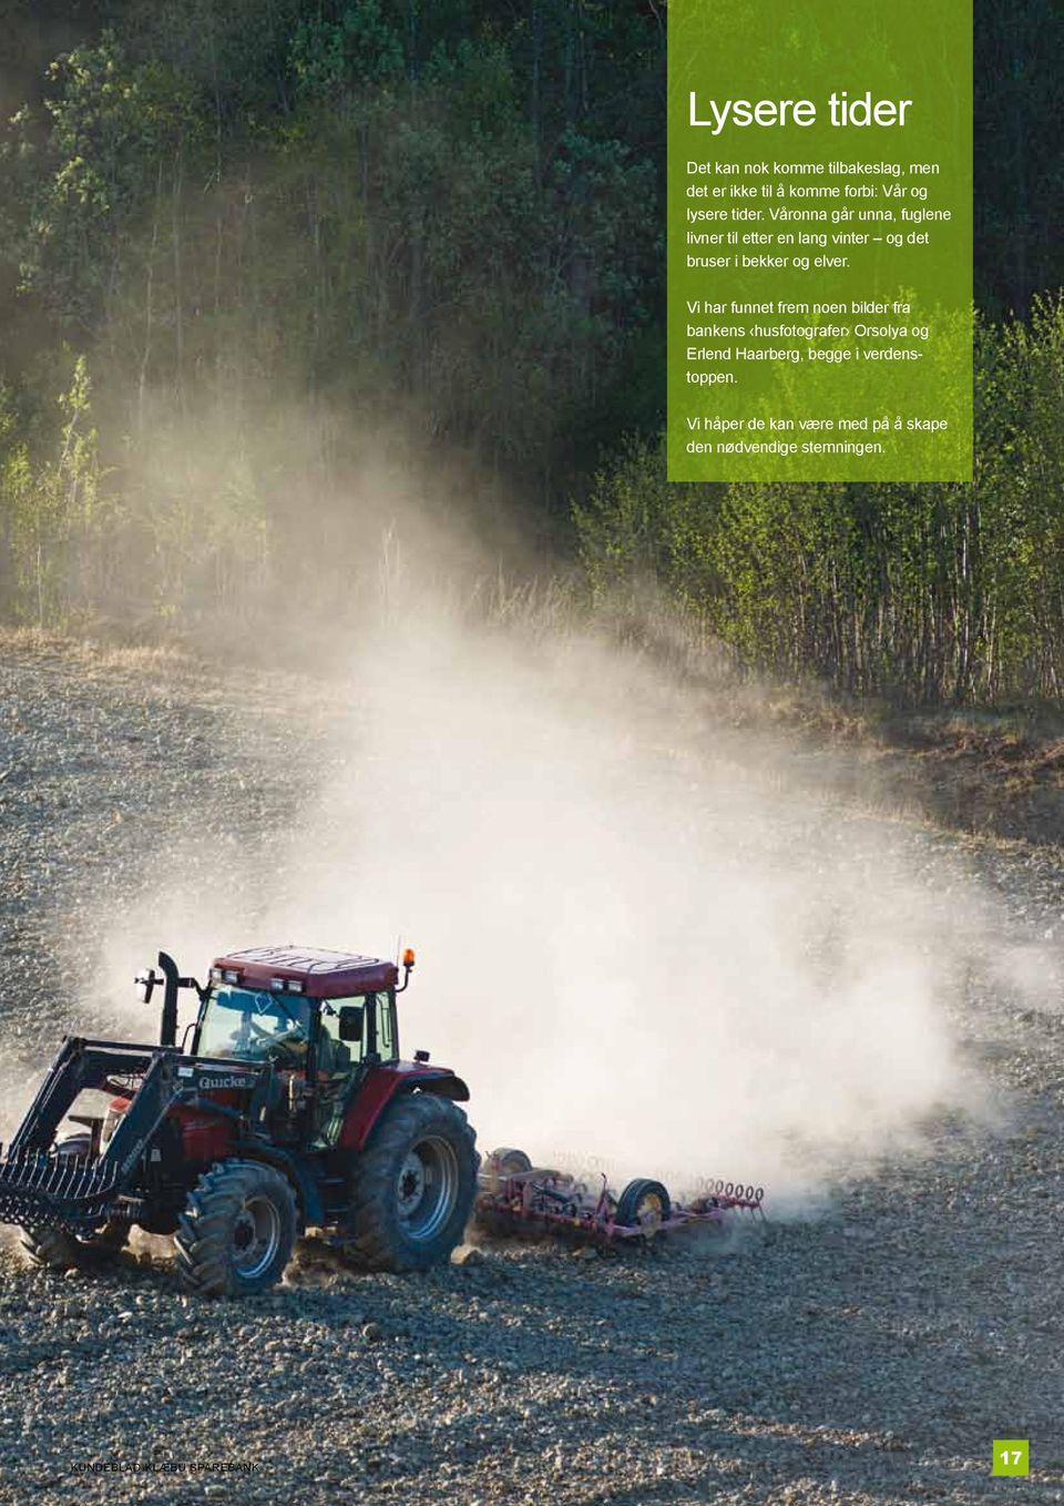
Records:
[[[670,480],[971,480],[971,0],[673,0],[668,74]]]

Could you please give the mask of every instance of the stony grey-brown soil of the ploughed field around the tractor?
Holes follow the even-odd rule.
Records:
[[[6,1134],[74,1018],[80,916],[135,893],[175,824],[283,824],[313,703],[283,676],[0,651]],[[1056,849],[868,819],[929,886],[977,873],[1016,934],[1059,926]],[[307,1241],[244,1304],[182,1297],[147,1242],[98,1276],[8,1245],[0,1501],[1061,1501],[1064,1018],[974,977],[959,1029],[996,1128],[942,1123],[935,1155],[722,1245],[485,1241],[391,1279]],[[1031,1440],[1029,1477],[992,1477],[995,1438]]]

